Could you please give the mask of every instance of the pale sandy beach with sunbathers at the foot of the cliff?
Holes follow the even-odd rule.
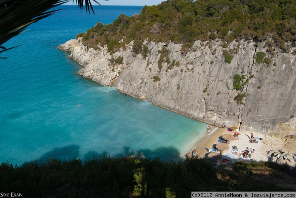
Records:
[[[268,151],[271,150],[289,151],[292,155],[296,155],[295,138],[279,135],[266,135],[259,132],[253,132],[254,137],[261,139],[257,139],[258,143],[250,143],[251,132],[238,132],[240,133],[239,139],[229,142],[229,149],[222,151],[222,158],[230,160],[231,162],[236,162],[239,160],[268,161],[267,154]],[[218,128],[215,132],[207,135],[204,139],[197,141],[193,146],[193,148],[195,147],[196,149],[196,154],[201,158],[204,157],[205,154],[208,153],[206,147],[212,149],[214,144],[220,143],[218,141],[219,137],[227,133],[233,135],[233,132],[228,132],[227,128]],[[232,146],[237,147],[236,152],[238,153],[238,155],[234,154],[235,151],[233,151]],[[254,149],[255,151],[252,154],[251,158],[242,158],[242,156],[240,156],[239,154],[246,150],[247,147]]]

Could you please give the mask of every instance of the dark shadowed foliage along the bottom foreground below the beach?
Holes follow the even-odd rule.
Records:
[[[3,192],[32,198],[183,198],[191,191],[293,191],[284,184],[295,183],[295,174],[287,165],[270,162],[237,162],[214,169],[198,158],[162,162],[103,157],[84,164],[52,159],[20,167],[2,163],[0,186]]]

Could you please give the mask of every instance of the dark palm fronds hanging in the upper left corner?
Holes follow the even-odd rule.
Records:
[[[7,40],[24,32],[32,23],[44,19],[56,10],[52,8],[69,2],[71,0],[0,0],[0,46],[4,51],[7,49],[2,46]],[[73,0],[74,1],[74,0]],[[94,0],[98,3],[96,0]],[[84,0],[76,0],[79,9],[83,9]],[[100,3],[98,3],[100,5]],[[85,0],[86,12],[93,13],[94,9],[90,0]],[[50,11],[48,11],[50,10]],[[12,48],[9,48],[12,49]],[[0,51],[0,53],[3,52]]]

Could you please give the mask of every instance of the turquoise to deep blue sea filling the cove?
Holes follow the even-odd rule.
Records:
[[[4,43],[0,53],[0,163],[143,152],[179,160],[207,134],[207,124],[123,95],[77,74],[81,68],[57,46],[97,22],[132,16],[141,6],[95,6],[86,14],[64,5]]]

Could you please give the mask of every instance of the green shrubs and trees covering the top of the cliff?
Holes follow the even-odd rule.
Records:
[[[144,6],[141,13],[121,14],[112,24],[97,23],[80,33],[83,44],[117,51],[134,40],[134,53],[142,52],[145,39],[182,43],[183,50],[195,40],[271,39],[271,44],[288,52],[296,45],[296,0],[167,0]],[[76,37],[77,37],[76,36]]]

